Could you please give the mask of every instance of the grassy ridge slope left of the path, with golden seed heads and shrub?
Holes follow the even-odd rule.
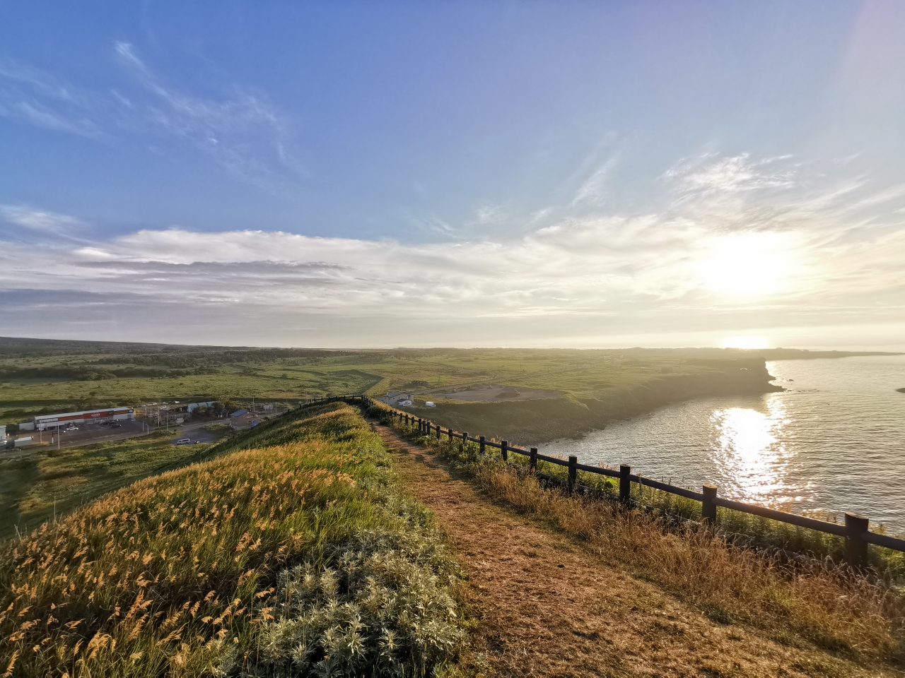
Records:
[[[356,410],[217,451],[4,544],[0,670],[420,675],[452,658],[457,570]]]

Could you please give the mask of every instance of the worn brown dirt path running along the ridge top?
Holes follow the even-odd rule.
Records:
[[[498,675],[881,675],[824,652],[779,645],[746,627],[715,624],[482,498],[392,429],[374,428],[402,453],[395,456],[400,476],[457,549]]]

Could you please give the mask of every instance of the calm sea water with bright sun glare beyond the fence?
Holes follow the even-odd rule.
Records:
[[[905,356],[767,363],[788,391],[690,400],[541,452],[630,464],[795,513],[844,511],[905,532]]]

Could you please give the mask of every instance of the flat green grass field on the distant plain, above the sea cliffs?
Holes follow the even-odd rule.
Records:
[[[530,402],[535,409],[555,410],[552,401],[558,400],[563,411],[556,416],[570,412],[580,418],[581,406],[576,410],[568,403],[590,403],[593,410],[596,402],[613,403],[626,392],[662,391],[683,380],[714,376],[761,389],[767,382],[763,356],[738,350],[315,351],[0,338],[0,423],[14,424],[43,412],[161,400],[304,400],[331,393],[412,390],[424,402],[437,400],[439,390],[491,383],[558,391],[559,399]],[[502,407],[489,410],[487,404],[448,404],[471,408],[468,413],[449,410],[449,416],[460,419],[531,407],[494,403]],[[532,411],[523,419],[536,416]]]

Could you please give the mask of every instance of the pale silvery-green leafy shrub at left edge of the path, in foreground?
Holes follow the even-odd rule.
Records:
[[[281,572],[261,659],[243,675],[424,674],[462,642],[435,532],[360,532],[329,561]]]

